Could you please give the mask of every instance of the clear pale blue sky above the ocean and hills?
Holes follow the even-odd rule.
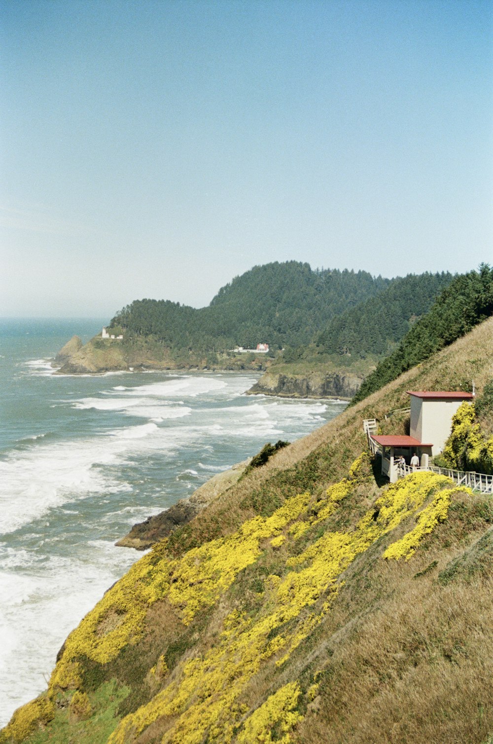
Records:
[[[0,315],[493,262],[493,5],[0,0]]]

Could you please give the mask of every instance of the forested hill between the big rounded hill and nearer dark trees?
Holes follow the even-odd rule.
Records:
[[[317,345],[329,354],[387,355],[452,278],[448,272],[398,278],[334,318],[318,335]]]

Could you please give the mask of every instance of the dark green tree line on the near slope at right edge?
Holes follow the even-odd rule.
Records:
[[[451,281],[430,312],[416,321],[396,350],[365,379],[351,403],[358,403],[383,388],[387,382],[464,336],[491,315],[493,269],[483,264],[478,272],[468,272]]]

